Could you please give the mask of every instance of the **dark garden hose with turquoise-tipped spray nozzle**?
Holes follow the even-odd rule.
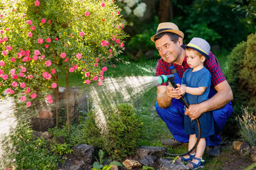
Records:
[[[168,81],[171,84],[171,86],[173,86],[174,89],[176,89],[178,86],[174,82],[174,77],[175,77],[174,74],[161,75],[161,76],[157,77],[157,82],[159,84],[163,84],[163,83],[166,83]],[[188,108],[188,104],[186,103],[186,101],[184,100],[184,98],[182,96],[181,96],[181,101],[186,106],[186,108]],[[197,140],[196,140],[196,144],[193,146],[192,149],[190,149],[188,152],[183,153],[183,154],[169,154],[167,152],[165,154],[168,154],[168,155],[174,156],[174,157],[176,157],[176,156],[182,157],[182,156],[185,156],[185,155],[190,154],[191,152],[193,152],[193,150],[196,149],[196,147],[199,143],[200,137],[201,137],[201,127],[200,127],[200,124],[199,124],[199,121],[198,121],[197,118],[196,118],[196,125],[198,127],[198,137],[197,137]]]

